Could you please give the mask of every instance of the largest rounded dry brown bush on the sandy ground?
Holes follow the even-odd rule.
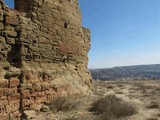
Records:
[[[91,111],[100,114],[101,120],[113,120],[133,115],[136,113],[136,108],[115,95],[109,95],[93,103]]]

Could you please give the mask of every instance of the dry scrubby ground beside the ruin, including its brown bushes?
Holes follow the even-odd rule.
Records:
[[[94,81],[94,87],[91,96],[56,99],[54,119],[43,120],[160,120],[160,81]]]

